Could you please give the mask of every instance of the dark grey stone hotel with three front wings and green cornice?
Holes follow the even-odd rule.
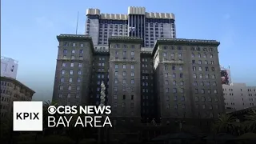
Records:
[[[119,118],[216,118],[225,110],[217,41],[159,38],[152,49],[115,36],[96,49],[87,35],[57,38],[53,100],[61,105],[98,105],[103,81]]]

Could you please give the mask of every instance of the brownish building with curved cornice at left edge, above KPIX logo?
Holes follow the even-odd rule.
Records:
[[[14,101],[31,101],[34,90],[14,78],[1,77],[1,117],[13,110]]]

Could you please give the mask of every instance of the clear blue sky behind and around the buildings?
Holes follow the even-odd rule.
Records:
[[[256,86],[256,1],[235,0],[2,0],[1,56],[19,61],[18,81],[33,89],[34,100],[51,100],[58,34],[84,34],[86,9],[127,14],[128,6],[174,13],[177,38],[214,39],[222,66],[233,82]]]

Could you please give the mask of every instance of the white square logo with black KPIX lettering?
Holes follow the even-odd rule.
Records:
[[[14,102],[14,131],[42,131],[42,102]]]

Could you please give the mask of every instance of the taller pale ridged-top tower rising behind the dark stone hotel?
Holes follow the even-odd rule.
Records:
[[[174,14],[149,13],[145,7],[129,6],[128,14],[101,14],[98,9],[88,9],[86,16],[86,34],[96,47],[107,46],[110,36],[143,38],[143,47],[152,48],[157,38],[176,38]]]

